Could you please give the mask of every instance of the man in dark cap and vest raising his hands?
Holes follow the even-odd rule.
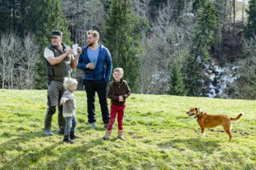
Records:
[[[53,135],[51,132],[52,116],[55,114],[56,105],[58,105],[58,133],[63,134],[65,128],[65,119],[62,115],[62,105],[60,99],[65,91],[63,86],[64,77],[70,77],[72,68],[78,64],[81,48],[78,49],[79,54],[73,56],[73,49],[63,44],[62,32],[52,31],[50,35],[51,44],[44,49],[44,58],[47,67],[48,77],[48,95],[47,95],[47,111],[44,119],[44,135]]]

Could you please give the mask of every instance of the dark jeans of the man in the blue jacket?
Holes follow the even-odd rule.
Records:
[[[102,121],[108,123],[109,111],[108,111],[108,100],[107,100],[107,87],[108,82],[103,80],[91,81],[84,80],[84,87],[87,94],[87,112],[88,122],[96,122],[95,114],[95,93],[99,96],[99,102],[102,110]]]

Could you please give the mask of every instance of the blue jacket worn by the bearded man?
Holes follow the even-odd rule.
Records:
[[[108,82],[112,71],[112,59],[109,54],[108,48],[105,48],[103,45],[100,45],[100,52],[94,70],[86,68],[86,65],[90,63],[90,60],[87,55],[87,48],[88,46],[82,48],[82,53],[79,55],[79,63],[77,65],[78,68],[84,69],[84,79],[105,79],[105,81]],[[107,69],[105,69],[105,64],[107,65]]]

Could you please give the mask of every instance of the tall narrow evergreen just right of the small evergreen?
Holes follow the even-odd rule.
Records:
[[[216,27],[216,12],[213,4],[206,0],[200,3],[193,44],[185,65],[185,85],[190,96],[200,96],[203,87],[201,71],[208,61],[212,34]]]

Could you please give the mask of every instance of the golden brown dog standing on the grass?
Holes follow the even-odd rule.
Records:
[[[244,113],[240,113],[236,118],[232,118],[226,115],[210,115],[207,114],[207,112],[200,110],[198,107],[191,107],[187,114],[189,116],[195,116],[196,121],[201,127],[201,137],[205,136],[205,128],[218,127],[218,125],[222,125],[224,127],[224,131],[230,136],[231,141],[231,121],[239,121]]]

